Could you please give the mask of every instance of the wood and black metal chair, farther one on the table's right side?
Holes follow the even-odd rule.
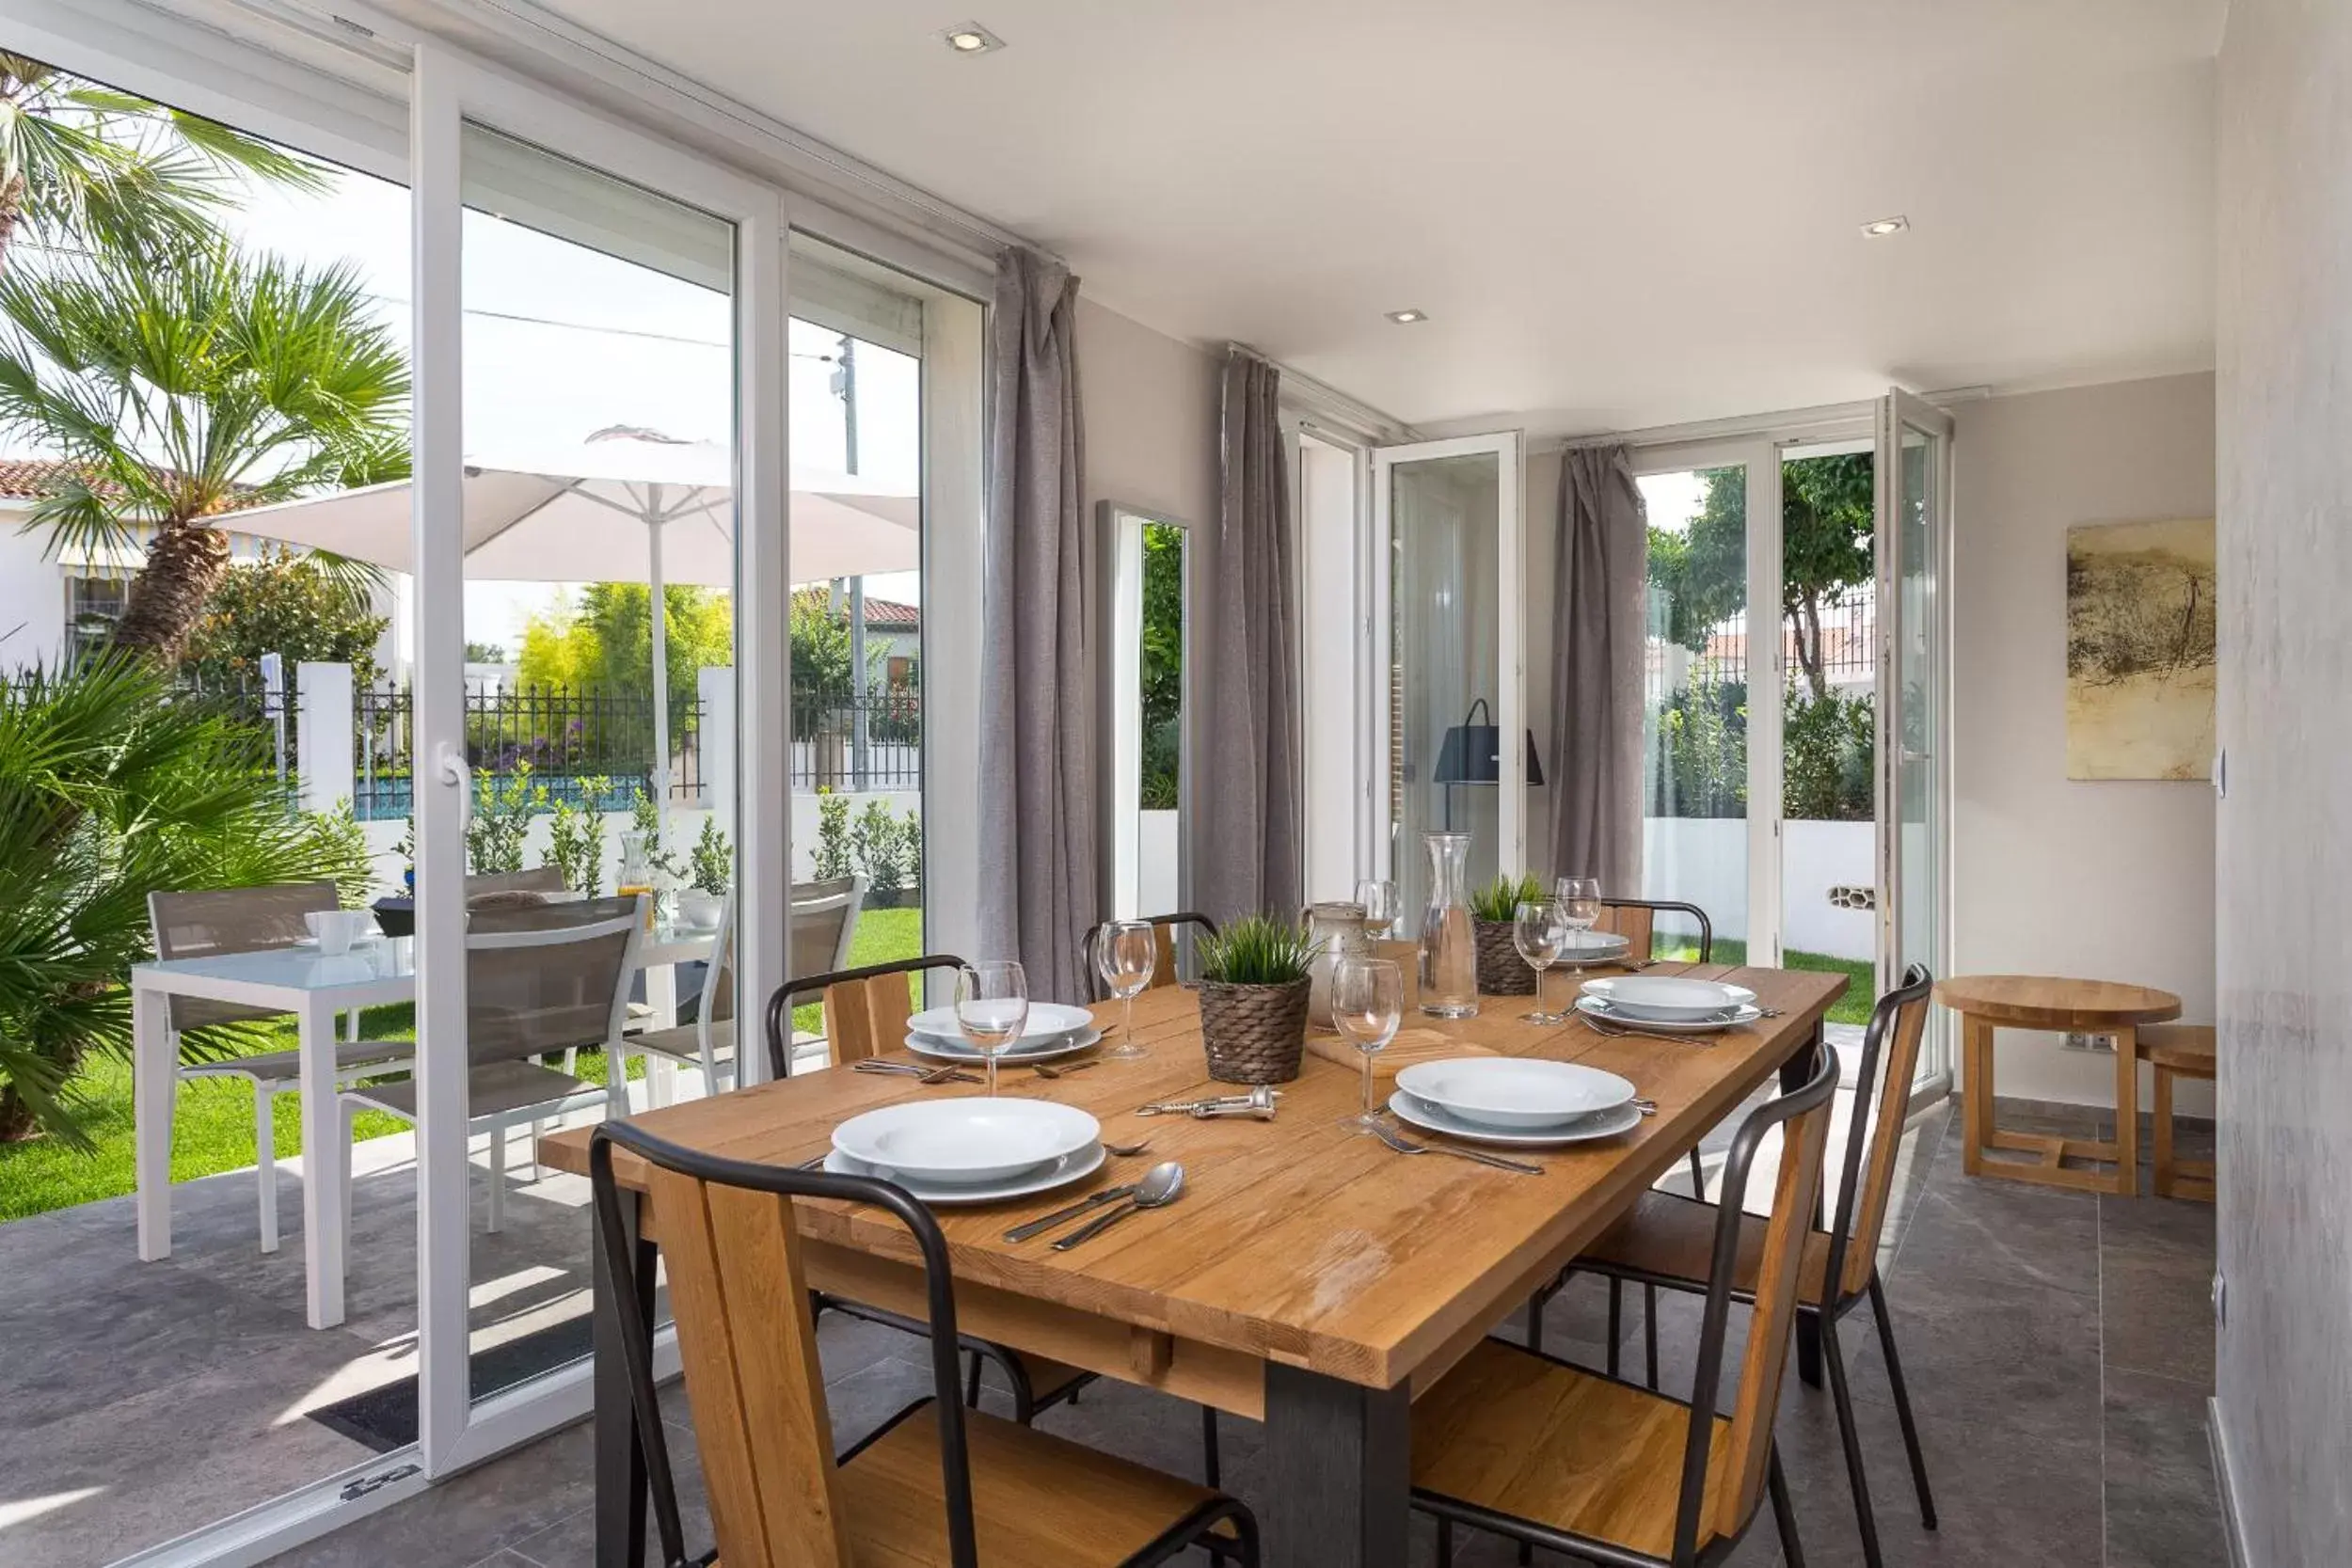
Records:
[[[1846,1378],[1846,1356],[1839,1347],[1837,1324],[1870,1302],[1870,1316],[1879,1326],[1879,1349],[1886,1356],[1886,1382],[1896,1396],[1896,1418],[1903,1425],[1903,1448],[1910,1455],[1912,1486],[1919,1493],[1919,1521],[1936,1528],[1936,1500],[1926,1483],[1926,1458],[1919,1453],[1919,1427],[1912,1420],[1910,1389],[1903,1382],[1903,1359],[1896,1354],[1896,1331],[1886,1314],[1886,1291],[1879,1284],[1879,1234],[1893,1204],[1896,1161],[1903,1145],[1903,1110],[1912,1074],[1919,1065],[1919,1039],[1926,1032],[1929,990],[1933,976],[1912,964],[1903,985],[1879,997],[1870,1011],[1870,1027],[1863,1034],[1860,1091],[1853,1095],[1853,1112],[1846,1121],[1846,1152],[1837,1187],[1837,1211],[1828,1232],[1809,1229],[1804,1248],[1804,1276],[1797,1293],[1797,1312],[1820,1319],[1820,1349],[1830,1371],[1830,1394],[1837,1401],[1837,1436],[1846,1450],[1846,1479],[1853,1486],[1853,1509],[1860,1519],[1863,1559],[1879,1568],[1879,1526],[1870,1507],[1870,1483],[1863,1476],[1863,1439],[1853,1425],[1853,1392]],[[1875,1117],[1872,1117],[1875,1112]],[[1865,1164],[1867,1159],[1867,1164]],[[1698,1241],[1705,1234],[1738,1220],[1740,1272],[1731,1281],[1733,1300],[1755,1295],[1755,1253],[1762,1241],[1759,1225],[1738,1213],[1738,1204],[1724,1199],[1715,1204],[1693,1201],[1672,1192],[1646,1192],[1642,1201],[1604,1232],[1571,1269],[1606,1274],[1611,1284],[1635,1279],[1651,1291],[1705,1291],[1712,1281],[1696,1269]],[[1656,1347],[1656,1326],[1651,1326]],[[1651,1387],[1658,1382],[1656,1352],[1651,1356]]]

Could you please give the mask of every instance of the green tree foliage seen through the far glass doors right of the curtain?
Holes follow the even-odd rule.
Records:
[[[1849,451],[1780,465],[1780,616],[1816,701],[1830,693],[1820,611],[1877,574],[1872,461]],[[1708,632],[1748,604],[1748,470],[1710,470],[1691,531],[1649,531],[1649,569],[1672,595],[1668,637],[1705,649]]]

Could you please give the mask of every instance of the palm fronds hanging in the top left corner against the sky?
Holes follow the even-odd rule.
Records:
[[[19,230],[141,256],[200,242],[245,176],[329,183],[268,141],[0,52],[0,266]]]

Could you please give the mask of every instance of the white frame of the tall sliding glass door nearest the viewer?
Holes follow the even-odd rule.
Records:
[[[468,1385],[468,1105],[463,945],[463,252],[461,141],[468,120],[661,190],[736,226],[736,973],[741,997],[786,976],[790,818],[786,757],[783,200],[604,115],[588,113],[437,40],[416,42],[409,108],[414,202],[414,555],[416,555],[416,1098],[419,1432],[428,1476],[475,1465],[574,1420],[588,1368],[572,1366],[480,1406]],[[746,875],[750,872],[750,875]],[[743,1016],[753,1016],[746,1011]],[[746,1051],[746,1079],[760,1053]]]

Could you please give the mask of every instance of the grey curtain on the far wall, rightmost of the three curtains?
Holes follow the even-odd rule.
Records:
[[[1552,569],[1552,875],[1642,893],[1642,595],[1649,527],[1623,447],[1559,454]]]

